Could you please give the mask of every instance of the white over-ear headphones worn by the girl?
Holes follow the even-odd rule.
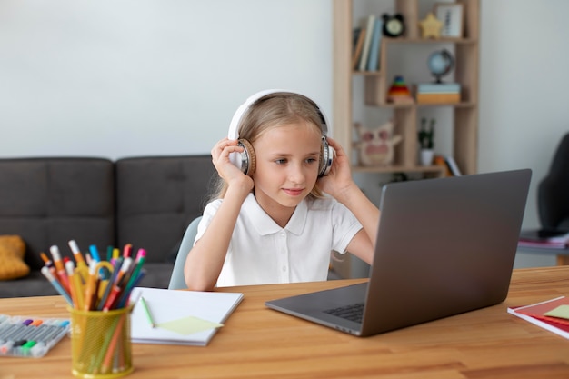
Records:
[[[231,163],[241,169],[245,175],[253,175],[255,172],[255,165],[256,165],[256,158],[255,158],[255,150],[253,149],[253,145],[246,139],[239,138],[239,125],[241,124],[241,120],[246,112],[253,106],[258,100],[261,100],[266,95],[275,95],[275,94],[293,94],[293,95],[300,95],[303,96],[306,100],[308,100],[314,108],[318,115],[320,115],[321,120],[321,128],[322,128],[322,145],[320,147],[320,163],[318,165],[318,177],[322,177],[328,175],[330,172],[330,168],[332,167],[332,163],[334,162],[334,148],[328,145],[328,140],[326,139],[326,135],[328,134],[328,119],[324,112],[320,109],[320,107],[311,100],[310,98],[299,94],[297,92],[283,90],[283,89],[267,89],[264,91],[259,91],[254,95],[251,95],[245,100],[245,103],[239,105],[237,110],[235,111],[235,115],[231,119],[231,124],[229,125],[229,132],[227,137],[231,140],[238,140],[241,147],[244,148],[243,153],[231,153],[229,155],[229,159]]]

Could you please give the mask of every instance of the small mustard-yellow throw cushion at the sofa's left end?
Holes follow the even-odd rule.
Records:
[[[15,279],[29,274],[24,262],[25,243],[19,235],[0,235],[0,280]]]

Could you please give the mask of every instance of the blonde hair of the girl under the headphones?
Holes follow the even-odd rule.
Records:
[[[308,97],[288,92],[265,95],[257,100],[254,105],[251,105],[241,119],[238,126],[239,138],[254,143],[269,129],[302,121],[308,125],[314,125],[324,135],[322,115],[318,111],[317,105]],[[210,200],[223,198],[226,191],[225,180],[217,175],[214,192],[210,196]],[[318,182],[308,196],[324,196],[318,187]]]

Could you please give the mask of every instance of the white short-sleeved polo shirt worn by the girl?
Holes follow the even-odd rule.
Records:
[[[223,202],[206,205],[195,240],[204,235]],[[362,229],[333,198],[304,199],[284,228],[249,194],[241,207],[217,286],[324,281],[330,253],[345,253]]]

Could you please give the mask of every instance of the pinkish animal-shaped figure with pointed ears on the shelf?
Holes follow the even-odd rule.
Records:
[[[359,135],[356,147],[359,149],[360,164],[368,166],[386,166],[394,162],[394,146],[402,140],[401,135],[394,135],[394,123],[388,121],[374,130],[365,129],[355,124]]]

